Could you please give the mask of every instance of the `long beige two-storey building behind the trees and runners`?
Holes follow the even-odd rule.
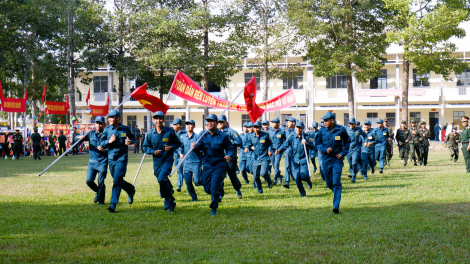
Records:
[[[466,61],[470,61],[470,53],[457,52],[455,55],[462,56]],[[353,79],[355,94],[356,120],[361,123],[368,119],[375,121],[379,118],[387,117],[389,124],[395,127],[401,118],[401,85],[402,55],[387,54],[387,63],[381,70],[381,75],[367,83],[358,83]],[[252,76],[254,70],[247,64],[249,59],[241,63],[242,70],[231,77],[227,88],[211,87],[211,94],[227,100],[234,98],[244,87]],[[311,126],[313,121],[320,121],[320,118],[327,112],[334,112],[339,124],[344,125],[348,119],[348,98],[346,91],[346,76],[336,74],[329,78],[317,77],[313,75],[313,67],[300,57],[288,57],[285,61],[279,61],[275,65],[285,65],[286,63],[300,63],[304,68],[303,74],[293,80],[273,79],[269,80],[268,98],[273,98],[293,87],[295,97],[299,107],[300,118]],[[85,98],[88,87],[91,87],[91,104],[104,105],[106,98],[111,93],[110,104],[115,107],[117,93],[113,89],[118,83],[117,75],[110,68],[103,67],[93,71],[94,81],[90,86],[83,85],[76,81],[78,90],[76,96],[77,113],[81,115],[80,122],[88,123],[92,119],[87,110]],[[431,126],[434,124],[457,122],[463,115],[470,115],[470,69],[456,76],[452,81],[445,81],[442,76],[433,72],[419,76],[416,74],[415,66],[410,65],[410,96],[409,96],[409,118],[424,120]],[[257,78],[260,84],[259,78]],[[132,87],[136,87],[135,80],[126,80],[124,83],[124,98],[126,98]],[[149,92],[159,96],[156,92]],[[257,101],[260,101],[259,93]],[[169,98],[167,98],[169,96]],[[175,95],[165,95],[164,101],[170,105],[167,113],[167,125],[175,118],[183,120],[193,119],[197,128],[201,129],[203,123],[203,107],[192,102],[185,101]],[[237,103],[244,103],[243,96],[240,96]],[[221,109],[211,108],[210,113],[220,114]],[[127,101],[124,104],[123,121],[126,125],[138,125],[139,128],[147,129],[147,110],[137,101]],[[226,114],[230,127],[240,131],[243,122],[249,121],[248,115],[243,112],[230,111]],[[269,113],[269,119],[275,117],[283,121],[286,116],[297,117],[295,106],[281,111]],[[460,122],[459,126],[461,127]]]

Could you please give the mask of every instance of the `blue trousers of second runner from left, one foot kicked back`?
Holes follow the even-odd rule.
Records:
[[[125,161],[109,161],[109,171],[113,177],[113,192],[111,193],[111,204],[116,205],[119,202],[119,196],[121,195],[121,190],[128,195],[134,195],[135,188],[134,185],[126,182],[124,177],[126,176],[127,171],[127,160]]]

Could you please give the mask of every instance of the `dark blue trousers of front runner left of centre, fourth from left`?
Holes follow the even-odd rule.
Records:
[[[219,207],[221,195],[224,192],[224,178],[226,174],[226,165],[219,163],[216,165],[206,164],[202,170],[202,184],[204,191],[211,194],[210,208],[217,209]]]

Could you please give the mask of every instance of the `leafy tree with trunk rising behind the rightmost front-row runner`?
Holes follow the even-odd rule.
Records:
[[[306,37],[306,58],[316,76],[346,75],[349,117],[355,117],[353,76],[378,76],[389,45],[385,21],[392,12],[382,0],[288,0],[289,19]]]

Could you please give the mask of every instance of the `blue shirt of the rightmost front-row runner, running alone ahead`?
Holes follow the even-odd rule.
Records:
[[[315,145],[318,151],[322,154],[322,157],[336,157],[338,154],[346,156],[349,153],[349,139],[346,128],[335,124],[333,130],[326,127],[320,128],[315,137]],[[331,148],[332,152],[327,154],[327,150]]]

